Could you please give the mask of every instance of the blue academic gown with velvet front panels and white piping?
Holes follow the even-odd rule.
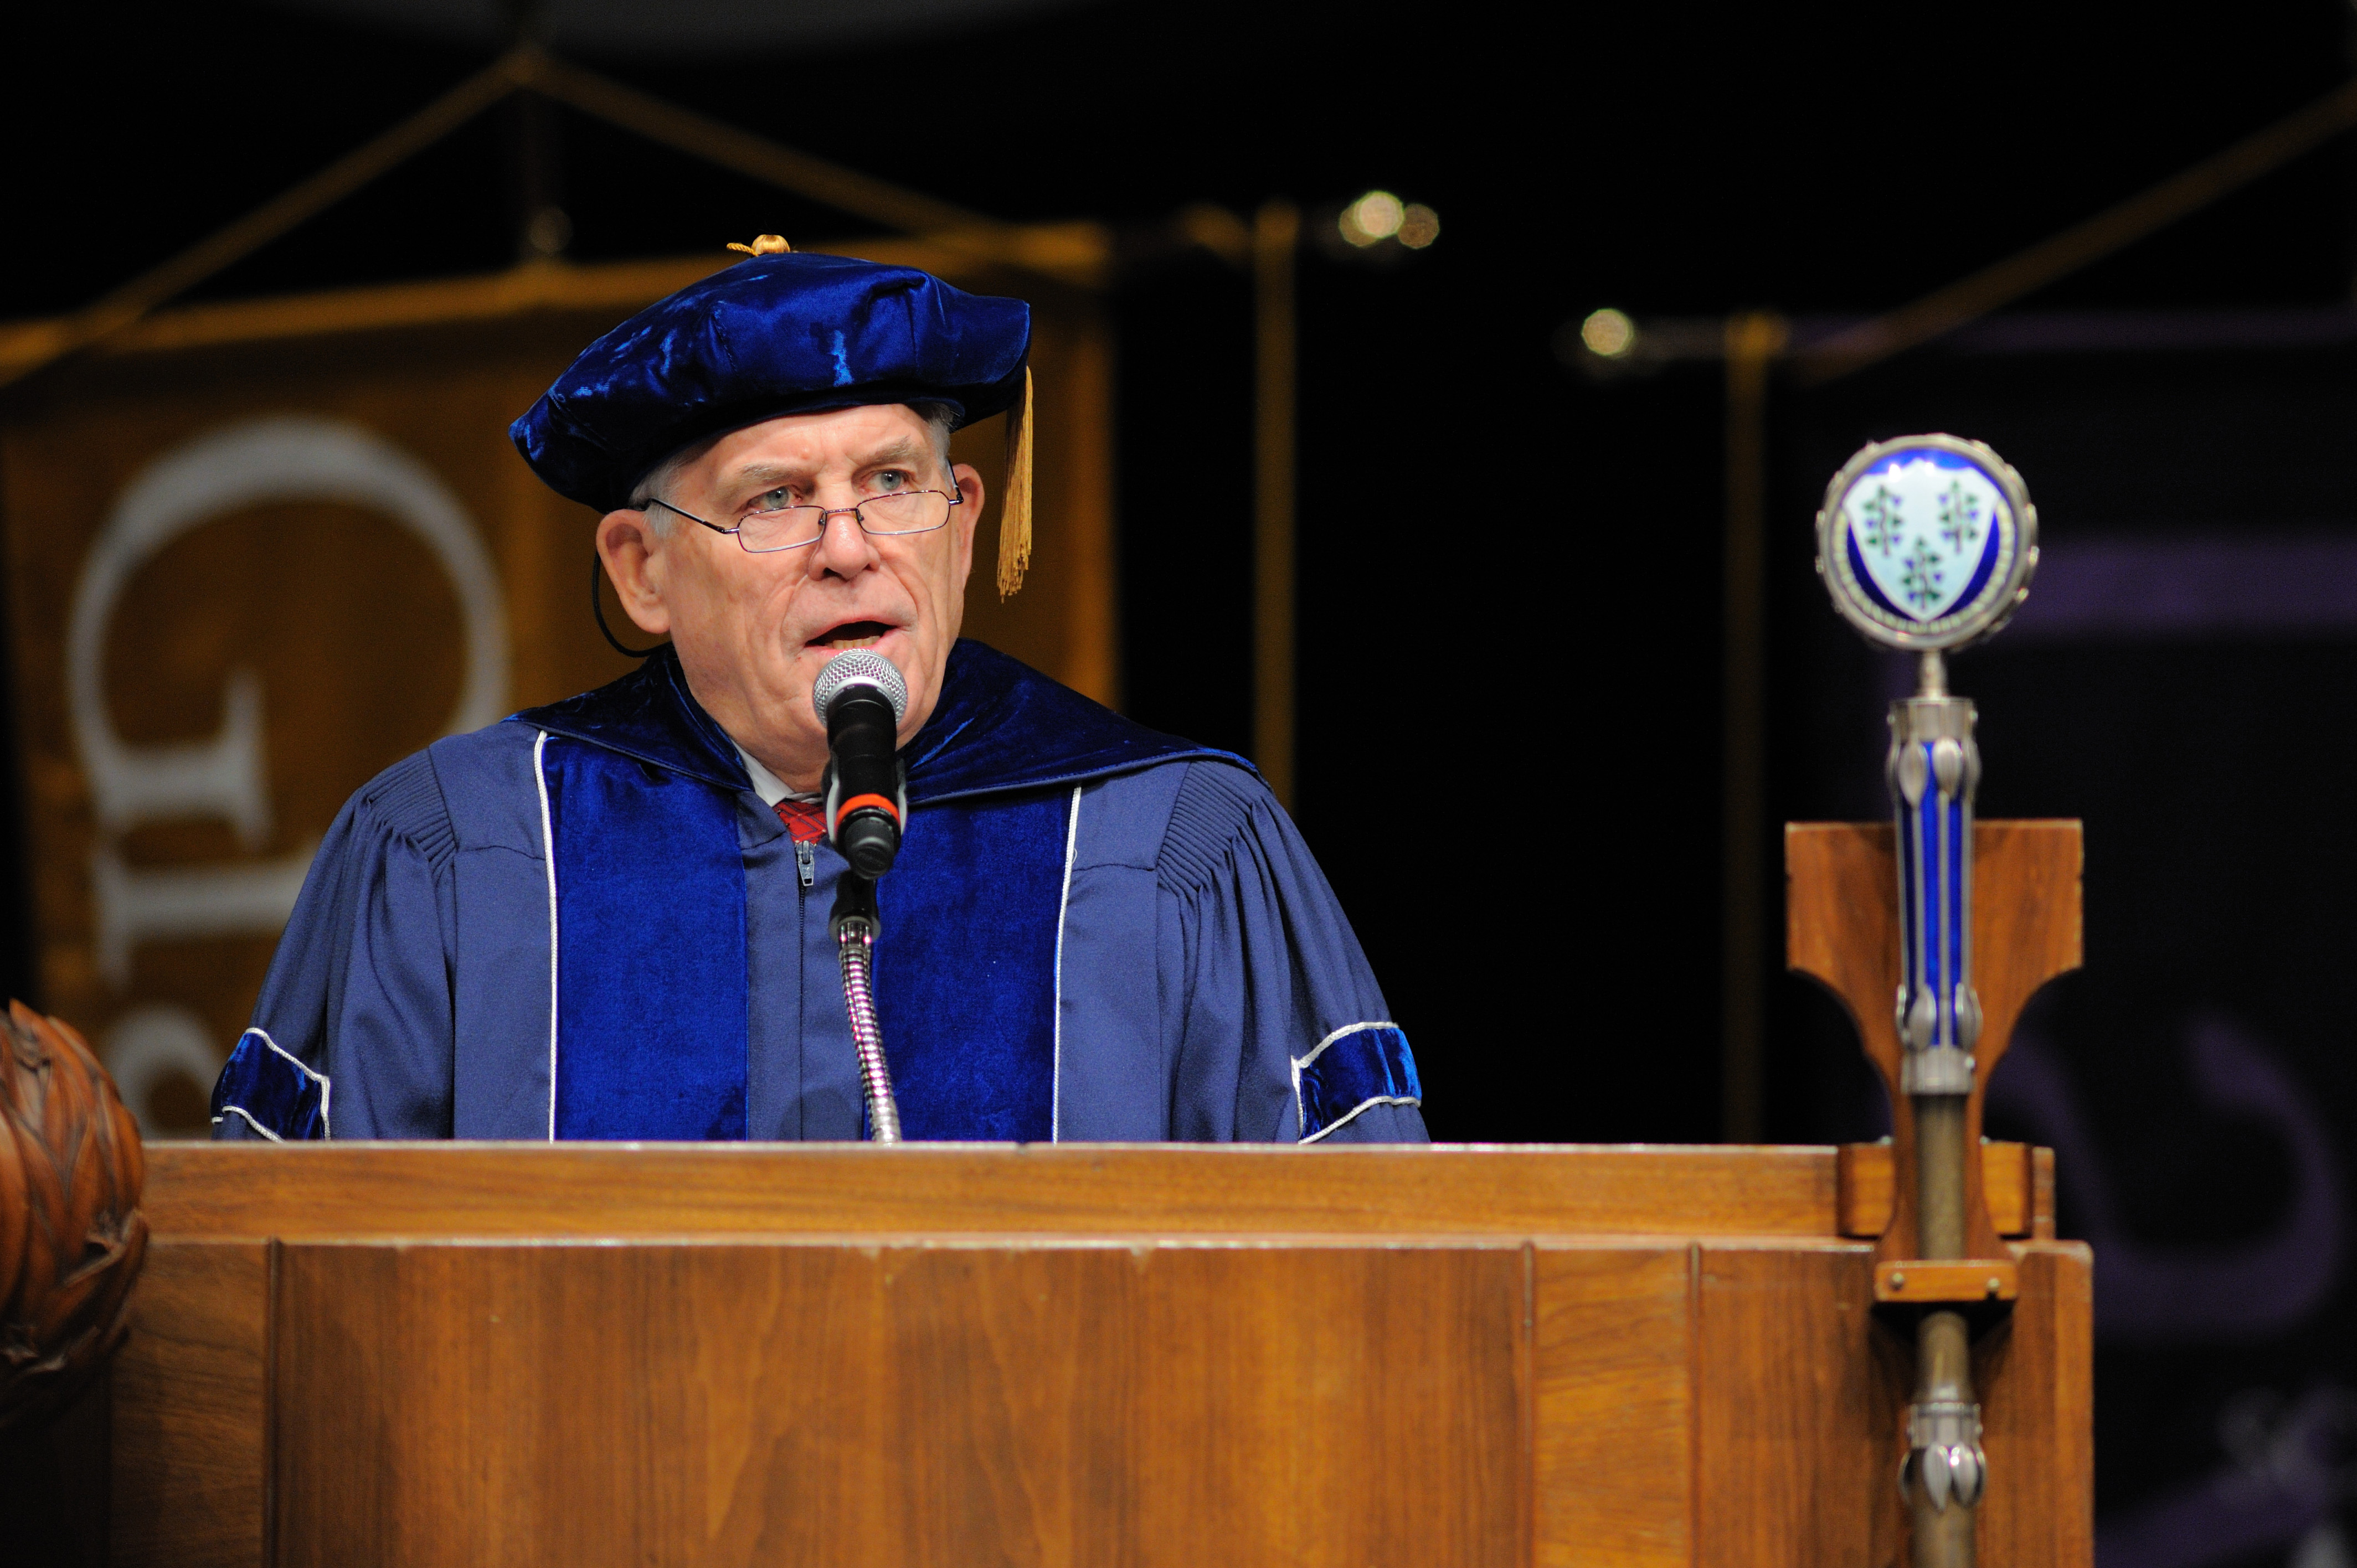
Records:
[[[903,759],[877,1007],[907,1137],[1424,1141],[1407,1037],[1244,762],[973,641]],[[214,1137],[865,1137],[841,875],[669,653],[438,740],[321,844]]]

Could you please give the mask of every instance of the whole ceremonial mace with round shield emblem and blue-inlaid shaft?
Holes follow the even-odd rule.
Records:
[[[1817,514],[1817,575],[1834,608],[1886,648],[1916,655],[1916,693],[1890,705],[1890,809],[1900,896],[1900,1092],[1914,1111],[1919,1276],[1968,1259],[1966,1101],[1980,997],[1973,990],[1973,795],[1978,714],[1947,689],[1947,655],[1992,637],[2029,594],[2039,514],[2022,476],[1980,441],[1902,436],[1850,457]],[[1902,1174],[1904,1179],[1904,1174]],[[1949,1269],[1940,1269],[1949,1264]],[[1904,1266],[1890,1269],[1904,1287]],[[1919,1280],[1921,1283],[1921,1280]],[[1876,1294],[1883,1294],[1881,1290]],[[1973,1563],[1987,1483],[1973,1398],[1973,1287],[1916,1290],[1916,1396],[1900,1493],[1914,1568]],[[1949,1304],[1940,1304],[1949,1302]]]

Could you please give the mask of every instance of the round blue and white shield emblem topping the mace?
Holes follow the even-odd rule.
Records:
[[[1850,457],[1817,514],[1817,573],[1834,608],[1907,651],[1989,637],[2029,592],[2039,514],[1980,441],[1900,436]]]

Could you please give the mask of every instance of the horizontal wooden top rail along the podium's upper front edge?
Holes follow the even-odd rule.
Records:
[[[1834,1236],[1831,1148],[158,1144],[158,1236]]]

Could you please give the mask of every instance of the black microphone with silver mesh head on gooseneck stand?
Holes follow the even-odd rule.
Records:
[[[877,1023],[874,946],[884,934],[877,879],[900,854],[900,825],[907,821],[907,766],[898,755],[907,681],[882,653],[846,648],[818,672],[811,707],[827,726],[827,776],[820,783],[827,839],[846,861],[827,931],[844,969],[844,1012],[860,1056],[867,1129],[877,1144],[898,1144],[900,1106],[891,1096],[884,1028]]]

